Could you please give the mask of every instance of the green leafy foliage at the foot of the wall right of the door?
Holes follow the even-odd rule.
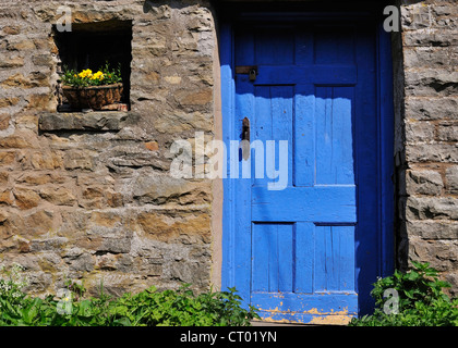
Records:
[[[458,299],[450,299],[443,288],[450,284],[438,277],[437,270],[429,263],[412,262],[407,273],[395,271],[381,278],[371,291],[376,309],[372,315],[352,319],[350,326],[458,326]],[[390,297],[386,290],[397,291],[397,313],[389,313]]]

